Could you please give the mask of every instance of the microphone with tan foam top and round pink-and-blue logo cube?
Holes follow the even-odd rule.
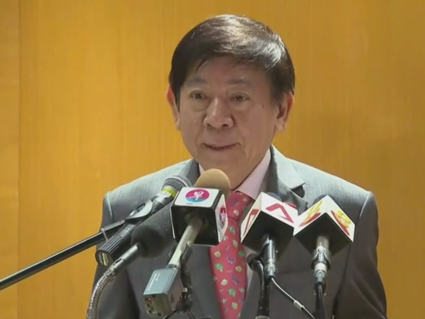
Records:
[[[165,268],[152,273],[143,293],[150,316],[190,312],[190,276],[186,262],[192,245],[214,246],[227,228],[225,195],[230,190],[226,174],[217,169],[205,171],[194,187],[182,188],[171,206],[173,237],[178,244]],[[136,235],[136,234],[135,234]]]

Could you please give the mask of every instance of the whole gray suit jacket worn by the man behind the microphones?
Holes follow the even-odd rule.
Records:
[[[355,223],[354,243],[332,257],[328,272],[325,308],[327,318],[382,319],[386,318],[386,295],[377,271],[376,245],[378,241],[377,208],[374,195],[336,176],[308,165],[290,160],[271,146],[267,192],[278,194],[296,205],[299,213],[309,207],[321,194],[336,198],[342,209]],[[194,160],[184,161],[138,178],[107,194],[103,199],[101,226],[125,218],[138,204],[152,198],[166,177],[185,175],[192,183],[199,176]],[[213,276],[208,262],[208,248],[193,246],[188,262],[192,276],[193,307],[197,317],[211,315],[220,319],[215,297]],[[99,319],[146,319],[143,291],[154,269],[168,262],[169,250],[154,259],[138,258],[105,289]],[[314,311],[311,254],[293,239],[278,261],[277,282],[296,300]],[[105,270],[97,267],[95,282]],[[270,318],[305,319],[277,290],[271,288]],[[255,318],[259,297],[259,278],[253,274],[246,295],[241,318]],[[187,318],[175,315],[175,319]]]

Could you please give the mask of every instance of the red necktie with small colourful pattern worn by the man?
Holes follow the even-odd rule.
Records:
[[[222,319],[237,319],[245,300],[246,261],[239,220],[251,198],[231,192],[226,201],[228,227],[223,241],[209,249],[214,285]]]

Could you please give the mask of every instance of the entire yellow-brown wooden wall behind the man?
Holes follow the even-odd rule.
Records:
[[[296,102],[275,145],[375,193],[389,317],[420,318],[419,0],[1,0],[0,277],[97,232],[106,191],[188,157],[167,73],[180,38],[220,13],[281,34]],[[0,318],[85,317],[95,264],[90,249],[0,291]]]

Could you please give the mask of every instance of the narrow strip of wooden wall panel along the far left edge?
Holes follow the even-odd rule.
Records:
[[[18,264],[19,11],[0,2],[0,277]],[[17,319],[17,287],[0,291],[0,317]]]

